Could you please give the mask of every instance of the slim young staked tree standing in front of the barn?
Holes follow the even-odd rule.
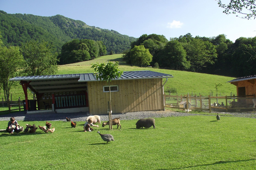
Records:
[[[112,108],[111,108],[111,80],[116,79],[121,77],[123,74],[123,71],[119,71],[118,69],[118,62],[113,63],[113,62],[108,62],[107,64],[105,63],[96,63],[92,64],[92,67],[94,68],[94,75],[96,76],[96,79],[100,79],[101,81],[107,81],[108,86],[109,86],[109,105],[110,109],[108,110],[108,119],[110,122],[109,129],[113,130],[112,127]]]

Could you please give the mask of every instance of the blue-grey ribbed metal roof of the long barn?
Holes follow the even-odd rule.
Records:
[[[152,78],[171,78],[170,74],[163,74],[154,71],[124,71],[120,78],[125,79],[152,79]],[[54,93],[64,91],[83,91],[87,89],[87,82],[97,80],[93,73],[86,74],[61,74],[46,76],[23,76],[14,77],[10,81],[30,82],[29,88],[38,93]]]

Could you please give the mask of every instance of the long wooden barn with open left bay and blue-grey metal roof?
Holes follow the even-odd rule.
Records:
[[[124,71],[122,77],[111,81],[113,113],[164,110],[163,79],[166,82],[172,77],[154,71]],[[35,105],[28,100],[27,90],[35,94],[38,110],[90,114],[108,111],[108,84],[97,80],[93,73],[14,77],[10,81],[20,81],[26,111]]]

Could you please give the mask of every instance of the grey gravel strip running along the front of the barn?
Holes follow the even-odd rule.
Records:
[[[237,117],[256,118],[256,113],[219,113],[230,114]],[[120,117],[121,120],[154,118],[154,117],[172,117],[172,116],[192,116],[193,113],[181,113],[174,111],[140,111],[127,113],[112,113],[112,119]],[[212,113],[216,115],[216,113]],[[10,120],[10,117],[15,117],[17,121],[66,121],[66,117],[70,117],[73,121],[86,121],[86,113],[37,113],[26,114],[26,112],[16,112],[5,115],[0,115],[0,121]],[[108,121],[108,114],[100,115],[101,121]]]

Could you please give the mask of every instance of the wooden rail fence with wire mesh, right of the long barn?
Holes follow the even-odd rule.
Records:
[[[189,103],[187,105],[187,103]],[[219,112],[244,112],[256,111],[255,97],[239,96],[172,96],[164,95],[165,108],[177,108],[183,110],[219,111]]]

